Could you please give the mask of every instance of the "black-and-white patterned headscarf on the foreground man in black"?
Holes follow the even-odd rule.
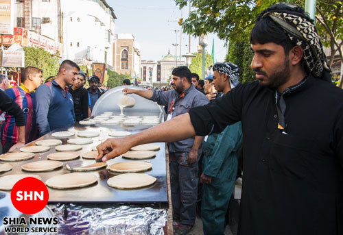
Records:
[[[322,43],[313,21],[305,16],[303,9],[289,3],[277,3],[267,8],[257,17],[269,16],[283,29],[289,40],[304,50],[305,66],[314,77],[327,79],[331,72],[327,58],[322,50]],[[327,71],[323,75],[323,72]]]

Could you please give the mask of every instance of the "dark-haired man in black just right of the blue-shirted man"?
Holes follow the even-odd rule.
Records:
[[[88,117],[88,91],[83,88],[86,77],[86,73],[79,71],[76,79],[73,81],[73,85],[69,89],[73,96],[76,121],[81,121]]]

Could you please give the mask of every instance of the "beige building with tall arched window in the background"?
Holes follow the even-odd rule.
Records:
[[[113,61],[115,71],[139,77],[141,68],[141,46],[132,34],[117,34],[114,43]]]

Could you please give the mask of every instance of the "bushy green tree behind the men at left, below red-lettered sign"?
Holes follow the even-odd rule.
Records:
[[[40,47],[23,47],[25,51],[25,66],[35,66],[43,70],[43,79],[56,76],[60,66],[58,54],[50,55]]]

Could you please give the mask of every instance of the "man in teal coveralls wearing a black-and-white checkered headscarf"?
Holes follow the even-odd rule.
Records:
[[[213,84],[225,95],[238,85],[239,67],[230,62],[213,66]],[[237,174],[237,151],[241,146],[241,122],[228,125],[220,134],[204,138],[202,162],[201,218],[205,235],[225,231],[225,214],[233,194]]]

